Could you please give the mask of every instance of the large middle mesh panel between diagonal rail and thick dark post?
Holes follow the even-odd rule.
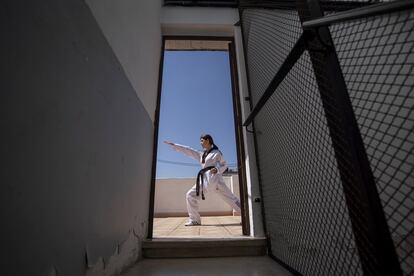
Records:
[[[255,127],[274,256],[303,275],[361,275],[307,53],[258,114]]]

